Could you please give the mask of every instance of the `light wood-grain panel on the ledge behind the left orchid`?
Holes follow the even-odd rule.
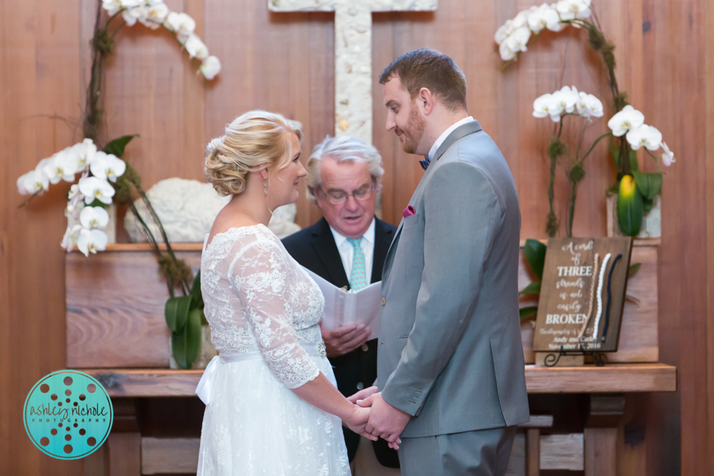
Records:
[[[200,252],[176,255],[196,273]],[[169,366],[169,291],[153,253],[106,251],[89,259],[69,253],[66,290],[67,367]]]

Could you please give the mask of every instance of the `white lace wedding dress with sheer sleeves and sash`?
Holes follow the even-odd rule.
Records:
[[[197,476],[349,475],[341,420],[291,392],[322,372],[320,288],[266,226],[203,243],[201,291],[213,358]]]

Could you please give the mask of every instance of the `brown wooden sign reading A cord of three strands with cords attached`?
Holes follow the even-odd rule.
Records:
[[[618,350],[632,238],[550,238],[533,350]]]

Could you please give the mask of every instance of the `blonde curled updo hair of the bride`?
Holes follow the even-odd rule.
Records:
[[[285,167],[293,156],[291,134],[302,139],[299,129],[285,118],[266,111],[249,111],[226,126],[226,134],[206,146],[203,173],[219,195],[237,195],[246,189],[248,173],[263,168]]]

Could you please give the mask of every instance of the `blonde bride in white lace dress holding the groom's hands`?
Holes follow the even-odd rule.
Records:
[[[206,178],[232,197],[201,256],[220,355],[196,388],[206,403],[197,476],[349,475],[341,422],[376,439],[364,430],[369,409],[336,388],[320,288],[267,227],[272,210],[298,199],[300,138],[280,116],[251,111],[206,148]]]

